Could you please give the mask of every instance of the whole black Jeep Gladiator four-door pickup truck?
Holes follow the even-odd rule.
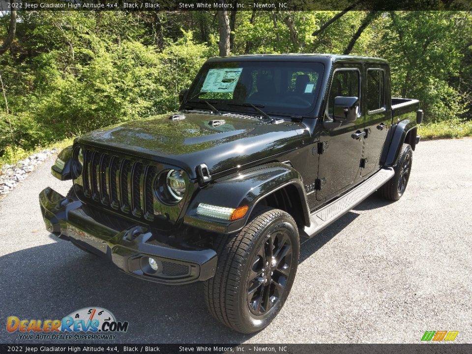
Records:
[[[282,308],[300,240],[376,190],[405,191],[423,119],[377,58],[207,60],[180,108],[83,135],[40,195],[47,230],[163,284],[204,281],[211,314],[254,332]]]

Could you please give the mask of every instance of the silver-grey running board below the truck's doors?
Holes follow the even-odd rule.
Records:
[[[303,230],[299,230],[300,236],[315,236],[333,221],[374,193],[380,186],[392,178],[393,175],[395,175],[395,172],[392,168],[384,168],[334,202],[316,210],[310,215],[311,225],[309,227],[305,226]]]

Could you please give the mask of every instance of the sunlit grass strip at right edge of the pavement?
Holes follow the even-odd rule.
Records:
[[[421,124],[418,128],[421,139],[450,139],[472,136],[472,120]]]

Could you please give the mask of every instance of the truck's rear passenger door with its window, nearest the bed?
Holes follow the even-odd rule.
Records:
[[[388,82],[386,67],[369,65],[365,74],[364,150],[360,161],[361,176],[367,176],[380,167],[380,154],[392,118],[387,105]]]

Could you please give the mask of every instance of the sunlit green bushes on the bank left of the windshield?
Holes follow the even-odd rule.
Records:
[[[100,26],[127,26],[131,19],[106,13]],[[90,31],[96,24],[89,13],[53,17],[41,12],[26,18],[25,25],[25,35],[40,43],[50,41],[45,32],[64,43],[51,42],[50,50],[21,60],[19,66],[12,57],[0,58],[11,123],[10,130],[3,109],[0,156],[12,155],[16,150],[7,149],[12,145],[30,150],[103,126],[174,111],[178,92],[190,85],[212,53],[207,45],[193,42],[192,32],[168,41],[163,52],[129,38],[129,31],[123,38],[116,37],[123,35],[118,30],[102,36]],[[141,35],[138,29],[133,27]]]

